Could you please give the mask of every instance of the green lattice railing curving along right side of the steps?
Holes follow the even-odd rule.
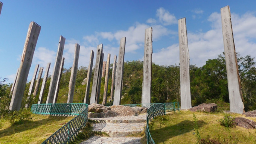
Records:
[[[152,139],[150,132],[149,132],[149,120],[154,118],[158,115],[165,115],[166,112],[170,111],[180,111],[180,103],[173,102],[173,103],[154,103],[147,111],[147,126],[145,128],[145,134],[147,139],[147,144],[155,144],[154,140]]]

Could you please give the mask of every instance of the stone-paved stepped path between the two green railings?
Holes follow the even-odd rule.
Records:
[[[142,137],[133,136],[144,132],[146,114],[133,117],[89,119],[98,122],[93,124],[93,131],[105,132],[110,137],[92,136],[81,144],[141,144],[140,139]]]

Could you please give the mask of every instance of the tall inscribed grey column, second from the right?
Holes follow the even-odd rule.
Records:
[[[186,18],[178,20],[180,43],[180,109],[190,109],[189,48],[187,44]]]

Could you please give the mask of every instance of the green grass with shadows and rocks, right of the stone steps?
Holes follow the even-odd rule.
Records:
[[[221,144],[254,144],[256,130],[243,127],[224,127],[217,122],[224,117],[223,112],[206,113],[180,111],[155,117],[149,124],[152,138],[157,144],[196,144],[193,113],[198,118],[198,132],[201,139],[213,139]],[[245,117],[231,114],[233,117]],[[248,119],[256,121],[256,118]]]

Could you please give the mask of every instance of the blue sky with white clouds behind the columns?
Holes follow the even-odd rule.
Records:
[[[220,9],[229,5],[236,52],[256,57],[256,1],[243,0],[0,0],[0,77],[12,83],[20,66],[31,21],[41,26],[29,71],[36,64],[50,73],[59,36],[66,38],[64,67],[73,63],[75,43],[81,45],[78,66],[88,67],[90,50],[103,44],[105,53],[118,55],[120,38],[126,36],[125,61],[143,61],[145,29],[153,28],[155,64],[179,63],[178,19],[186,17],[190,64],[201,67],[224,51]],[[94,56],[96,58],[96,56]],[[94,62],[96,60],[94,59]],[[44,72],[43,72],[44,75]]]

